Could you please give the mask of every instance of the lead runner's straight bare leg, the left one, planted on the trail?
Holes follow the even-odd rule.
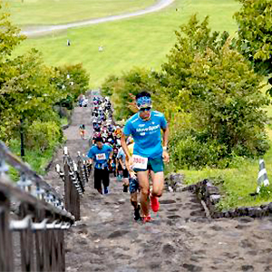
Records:
[[[137,172],[139,185],[141,187],[141,211],[143,216],[150,215],[150,201],[149,201],[150,183],[148,173],[149,173],[148,170]]]

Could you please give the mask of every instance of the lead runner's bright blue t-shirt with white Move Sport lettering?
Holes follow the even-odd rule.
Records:
[[[154,159],[162,155],[160,129],[166,127],[167,121],[161,112],[151,111],[148,121],[143,121],[138,112],[126,121],[123,133],[134,139],[133,154]]]

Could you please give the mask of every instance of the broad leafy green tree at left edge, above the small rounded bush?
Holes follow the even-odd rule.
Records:
[[[53,84],[53,69],[47,67],[36,50],[5,63],[5,83],[0,89],[0,119],[4,129],[0,135],[8,139],[22,121],[39,119],[60,99]]]

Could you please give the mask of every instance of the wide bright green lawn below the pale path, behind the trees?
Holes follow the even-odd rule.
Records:
[[[200,19],[209,15],[212,29],[234,34],[237,25],[232,15],[238,7],[236,0],[176,0],[170,7],[151,15],[28,39],[15,53],[23,54],[35,47],[44,53],[48,64],[83,63],[91,75],[90,87],[97,88],[108,75],[120,74],[133,66],[160,69],[176,41],[174,31],[194,13]],[[66,46],[68,38],[70,47]],[[100,45],[103,52],[98,52]]]

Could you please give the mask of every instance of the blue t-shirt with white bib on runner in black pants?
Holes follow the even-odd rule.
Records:
[[[107,144],[104,144],[101,150],[95,145],[92,146],[91,150],[88,152],[88,157],[95,161],[95,168],[104,169],[108,167],[108,160],[111,152],[112,147]]]

